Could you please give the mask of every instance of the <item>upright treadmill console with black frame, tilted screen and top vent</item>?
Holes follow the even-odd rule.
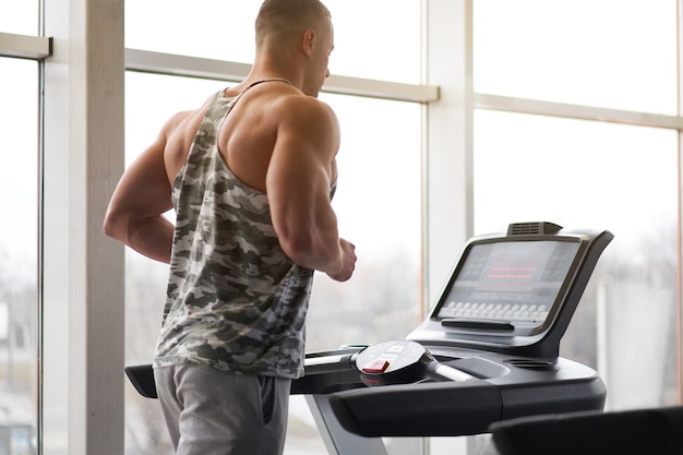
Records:
[[[597,259],[613,236],[567,231],[550,223],[519,226],[467,243],[430,318],[409,339],[558,355]]]

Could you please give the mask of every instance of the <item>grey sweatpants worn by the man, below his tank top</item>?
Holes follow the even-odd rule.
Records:
[[[196,366],[154,370],[178,455],[281,455],[291,380]]]

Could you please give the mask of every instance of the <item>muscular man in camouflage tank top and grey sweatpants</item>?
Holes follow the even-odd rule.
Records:
[[[339,127],[319,0],[266,0],[250,74],[177,113],[123,173],[105,232],[170,263],[155,381],[178,454],[281,454],[313,271],[350,278],[331,197]],[[169,94],[172,96],[172,94]],[[171,225],[163,214],[176,211]]]

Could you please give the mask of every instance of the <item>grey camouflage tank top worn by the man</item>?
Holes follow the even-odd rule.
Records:
[[[154,364],[296,379],[313,271],[286,256],[266,195],[242,183],[218,152],[220,125],[242,94],[216,94],[173,184],[176,231]]]

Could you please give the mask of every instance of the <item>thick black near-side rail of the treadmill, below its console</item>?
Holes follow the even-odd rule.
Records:
[[[493,384],[436,382],[358,388],[329,395],[348,432],[362,436],[462,436],[492,423],[539,414],[600,411],[607,388],[596,374]]]

